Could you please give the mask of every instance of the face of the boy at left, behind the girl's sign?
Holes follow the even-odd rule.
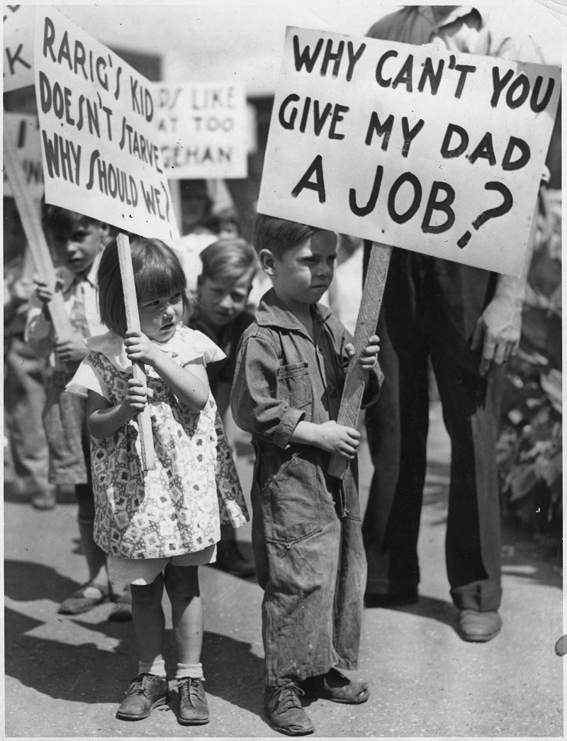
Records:
[[[47,229],[47,241],[59,265],[86,273],[104,245],[108,227],[100,222],[78,222],[70,229]]]

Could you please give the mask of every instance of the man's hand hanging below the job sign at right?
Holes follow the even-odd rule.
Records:
[[[481,376],[486,376],[491,363],[502,365],[517,353],[521,330],[521,303],[515,297],[494,296],[480,315],[472,336],[472,350],[483,348]]]

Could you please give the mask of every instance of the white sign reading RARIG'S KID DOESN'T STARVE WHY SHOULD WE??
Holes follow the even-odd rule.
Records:
[[[152,84],[50,6],[36,6],[34,66],[47,202],[171,245]]]

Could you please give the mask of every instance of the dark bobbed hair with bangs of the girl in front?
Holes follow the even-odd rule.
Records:
[[[184,321],[192,313],[192,301],[187,293],[187,278],[175,252],[161,239],[135,236],[130,241],[136,302],[149,297],[183,296]],[[98,310],[101,321],[110,330],[124,337],[127,330],[126,308],[118,244],[113,239],[104,247],[97,273]]]

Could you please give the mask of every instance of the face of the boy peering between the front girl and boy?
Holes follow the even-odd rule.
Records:
[[[198,299],[201,316],[208,325],[226,327],[241,315],[252,288],[252,272],[240,278],[201,278]]]

